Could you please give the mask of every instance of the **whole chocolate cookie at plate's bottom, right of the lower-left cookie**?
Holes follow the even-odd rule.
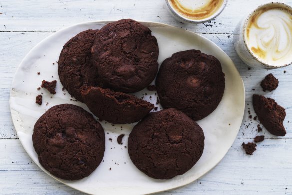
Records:
[[[129,156],[149,177],[171,179],[193,167],[204,150],[204,133],[184,113],[173,108],[151,112],[132,130]]]

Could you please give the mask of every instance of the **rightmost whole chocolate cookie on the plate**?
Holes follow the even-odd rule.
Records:
[[[156,89],[163,108],[176,108],[193,120],[212,113],[220,103],[225,77],[221,63],[199,50],[173,54],[162,63]]]

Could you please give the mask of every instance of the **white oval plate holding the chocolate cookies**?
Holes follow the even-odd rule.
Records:
[[[62,91],[56,61],[63,45],[70,38],[87,29],[100,29],[109,22],[112,21],[80,23],[50,35],[25,56],[16,72],[10,97],[13,123],[28,155],[50,176],[52,175],[39,164],[32,145],[35,122],[46,110],[57,104],[75,104],[88,111],[85,104],[70,100],[72,98],[68,92]],[[90,194],[147,194],[180,187],[195,181],[211,170],[225,156],[236,138],[243,119],[245,91],[243,81],[228,55],[210,40],[193,32],[161,23],[143,22],[143,24],[152,30],[158,40],[159,64],[173,53],[188,49],[199,49],[217,57],[222,63],[226,79],[223,99],[213,113],[198,121],[205,134],[203,155],[184,175],[170,180],[152,179],[134,166],[125,148],[133,124],[113,126],[102,121],[106,135],[104,162],[90,176],[78,181],[66,181],[52,176],[72,188]],[[40,75],[37,72],[40,72]],[[45,89],[37,90],[42,80],[57,80],[57,93],[52,95]],[[41,106],[35,103],[35,97],[40,93],[43,93]],[[144,89],[136,95],[156,104],[155,91]],[[160,105],[157,106],[159,110]],[[116,141],[120,134],[125,134],[123,145],[117,144]]]

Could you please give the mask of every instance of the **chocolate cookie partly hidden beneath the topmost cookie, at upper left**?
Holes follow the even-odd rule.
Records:
[[[58,73],[62,85],[80,102],[83,102],[81,86],[101,85],[101,79],[96,66],[92,64],[90,53],[97,32],[98,30],[86,30],[70,39],[64,45],[58,61]]]

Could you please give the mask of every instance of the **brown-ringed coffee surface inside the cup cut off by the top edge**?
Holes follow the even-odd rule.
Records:
[[[224,0],[169,0],[172,7],[182,16],[202,20],[215,14]]]

